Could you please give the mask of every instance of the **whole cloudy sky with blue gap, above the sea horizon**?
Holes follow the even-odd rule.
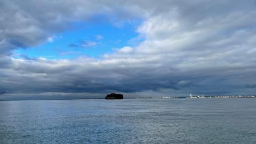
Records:
[[[0,1],[0,99],[256,94],[256,2]]]

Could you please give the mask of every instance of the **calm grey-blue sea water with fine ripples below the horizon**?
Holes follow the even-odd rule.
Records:
[[[0,101],[0,143],[256,143],[256,99]]]

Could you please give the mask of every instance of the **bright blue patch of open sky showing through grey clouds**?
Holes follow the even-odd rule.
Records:
[[[111,23],[79,23],[78,28],[47,38],[43,44],[14,50],[15,58],[75,59],[80,56],[100,58],[113,49],[134,46],[130,40],[138,37],[136,29],[140,20],[124,22],[122,26]],[[83,25],[83,26],[82,26]]]

